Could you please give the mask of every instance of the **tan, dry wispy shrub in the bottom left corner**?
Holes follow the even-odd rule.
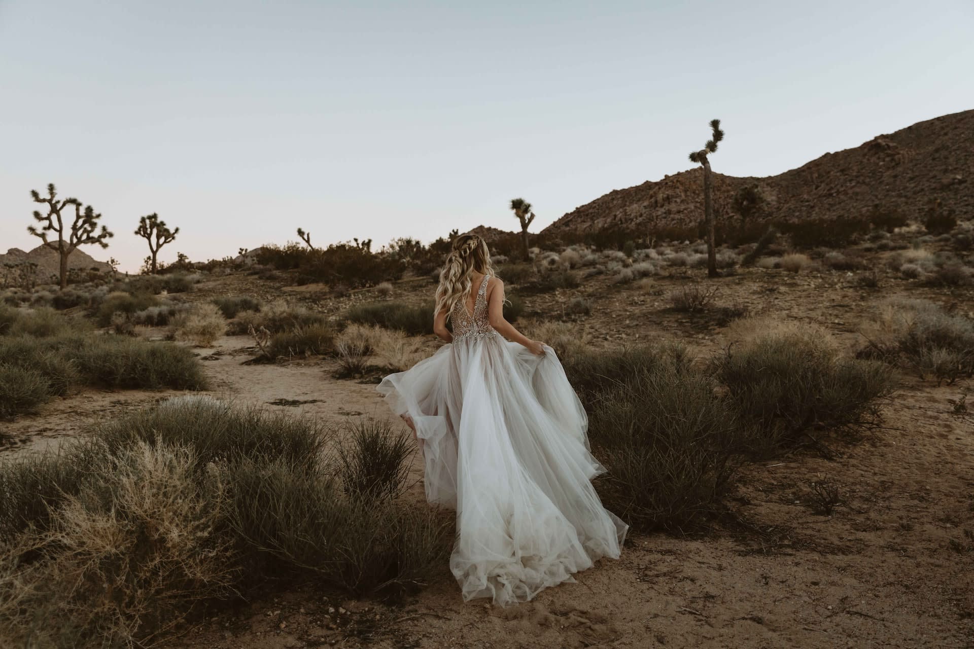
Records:
[[[20,640],[72,646],[144,646],[178,624],[194,602],[233,592],[238,568],[221,533],[227,488],[215,466],[195,471],[192,450],[140,443],[106,454],[96,480],[66,495],[51,526],[6,548],[17,564],[0,593],[3,626]],[[33,615],[19,615],[20,608]]]

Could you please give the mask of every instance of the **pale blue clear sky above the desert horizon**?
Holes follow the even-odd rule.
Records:
[[[137,270],[297,240],[538,232],[693,166],[775,175],[974,108],[974,1],[0,0],[0,252],[56,183]]]

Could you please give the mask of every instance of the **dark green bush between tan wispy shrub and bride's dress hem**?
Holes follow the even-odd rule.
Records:
[[[314,576],[353,595],[427,583],[447,559],[449,520],[397,500],[342,493],[330,470],[247,459],[233,469],[231,525],[249,581]]]

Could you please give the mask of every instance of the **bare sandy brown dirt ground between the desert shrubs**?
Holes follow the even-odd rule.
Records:
[[[666,293],[686,279],[659,278],[658,291],[586,280],[578,289],[525,296],[522,319],[561,319],[562,305],[582,296],[593,310],[576,319],[595,346],[665,338],[714,353],[723,344],[719,326],[666,309]],[[880,290],[835,271],[746,270],[715,281],[719,304],[817,322],[849,344],[883,297],[954,302],[974,315],[970,289],[952,295],[889,277]],[[432,288],[426,279],[405,280],[393,299],[418,302]],[[281,293],[331,313],[378,299],[371,291],[332,299],[319,286],[284,289],[247,275],[207,280],[185,297]],[[333,360],[243,365],[253,351],[246,337],[196,351],[216,396],[336,423],[389,416],[374,384],[332,379]],[[904,375],[884,406],[883,428],[858,444],[830,441],[830,458],[803,451],[746,465],[730,499],[746,524],[688,537],[630,532],[621,559],[602,560],[577,575],[578,583],[526,604],[464,603],[444,564],[427,589],[403,602],[349,600],[309,586],[219,611],[161,646],[974,647],[974,540],[964,535],[974,531],[974,430],[949,402],[969,387]],[[172,394],[86,389],[40,415],[0,424],[15,440],[0,456],[56,445],[94,421]],[[412,471],[406,497],[422,499],[418,457]],[[840,488],[842,505],[832,517],[808,506],[809,486],[820,477]]]

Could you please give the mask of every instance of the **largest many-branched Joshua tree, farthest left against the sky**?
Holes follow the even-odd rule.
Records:
[[[96,243],[102,248],[107,248],[108,243],[105,239],[114,236],[108,229],[101,226],[98,230],[98,219],[101,214],[95,214],[94,208],[87,205],[84,210],[81,208],[81,201],[77,198],[57,199],[57,191],[54,183],[48,184],[48,196],[41,197],[37,190],[30,191],[30,198],[34,202],[44,203],[48,206],[48,213],[42,214],[34,210],[34,220],[43,224],[42,227],[27,226],[27,232],[39,237],[44,241],[44,245],[54,250],[60,257],[60,287],[67,288],[67,258],[74,252],[79,245]],[[65,217],[71,218],[70,207],[74,207],[74,220],[70,224],[64,222]],[[67,208],[67,214],[63,214]],[[49,238],[48,234],[54,233],[57,238]]]

